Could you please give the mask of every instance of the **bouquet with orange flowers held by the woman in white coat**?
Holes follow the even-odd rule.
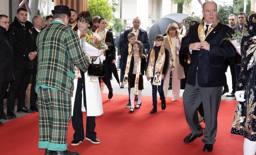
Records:
[[[93,34],[91,29],[89,29],[86,34],[80,35],[80,39],[86,48],[86,53],[90,57],[98,57],[108,49],[109,43],[104,43],[102,39],[99,39],[99,37],[97,34]]]

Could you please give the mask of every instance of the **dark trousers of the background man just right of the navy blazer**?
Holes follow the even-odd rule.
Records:
[[[228,66],[230,67],[231,77],[232,77],[232,92],[235,93],[236,91],[236,71],[234,65],[230,64],[229,62],[225,62],[224,64],[224,89],[228,89],[228,83],[227,83],[227,77],[225,72],[228,69]]]

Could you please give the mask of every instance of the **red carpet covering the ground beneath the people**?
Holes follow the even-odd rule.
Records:
[[[128,113],[125,108],[128,96],[115,95],[108,100],[103,94],[104,114],[96,117],[97,137],[101,144],[92,144],[84,140],[78,146],[71,146],[74,130],[68,127],[68,149],[78,151],[81,155],[106,154],[243,154],[243,137],[231,135],[231,123],[235,112],[235,101],[221,101],[218,115],[218,132],[213,151],[203,152],[204,143],[201,138],[185,144],[183,138],[190,133],[185,120],[182,99],[172,102],[167,98],[167,108],[150,114],[152,97],[142,97],[142,106],[135,112]],[[86,113],[84,113],[86,116]],[[86,117],[84,117],[86,118]],[[84,125],[85,125],[84,119]],[[202,123],[204,127],[204,123]],[[38,148],[38,113],[28,114],[4,123],[0,127],[1,155],[37,155],[44,154]]]

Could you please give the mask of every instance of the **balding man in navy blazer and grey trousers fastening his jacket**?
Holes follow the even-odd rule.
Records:
[[[202,102],[205,120],[202,141],[204,142],[203,151],[207,152],[212,151],[217,133],[217,114],[223,89],[224,58],[233,57],[236,50],[228,41],[223,41],[226,34],[233,33],[233,30],[217,22],[217,4],[208,1],[202,8],[204,17],[202,32],[206,35],[205,40],[200,41],[198,34],[201,23],[195,24],[189,28],[187,37],[180,47],[183,54],[191,54],[187,83],[183,93],[184,112],[191,134],[183,141],[190,143],[203,135],[197,115],[197,109]]]

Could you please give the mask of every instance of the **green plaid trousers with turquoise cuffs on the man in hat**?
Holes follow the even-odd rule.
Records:
[[[40,87],[37,100],[39,109],[38,148],[52,151],[67,150],[71,95],[59,90]]]

